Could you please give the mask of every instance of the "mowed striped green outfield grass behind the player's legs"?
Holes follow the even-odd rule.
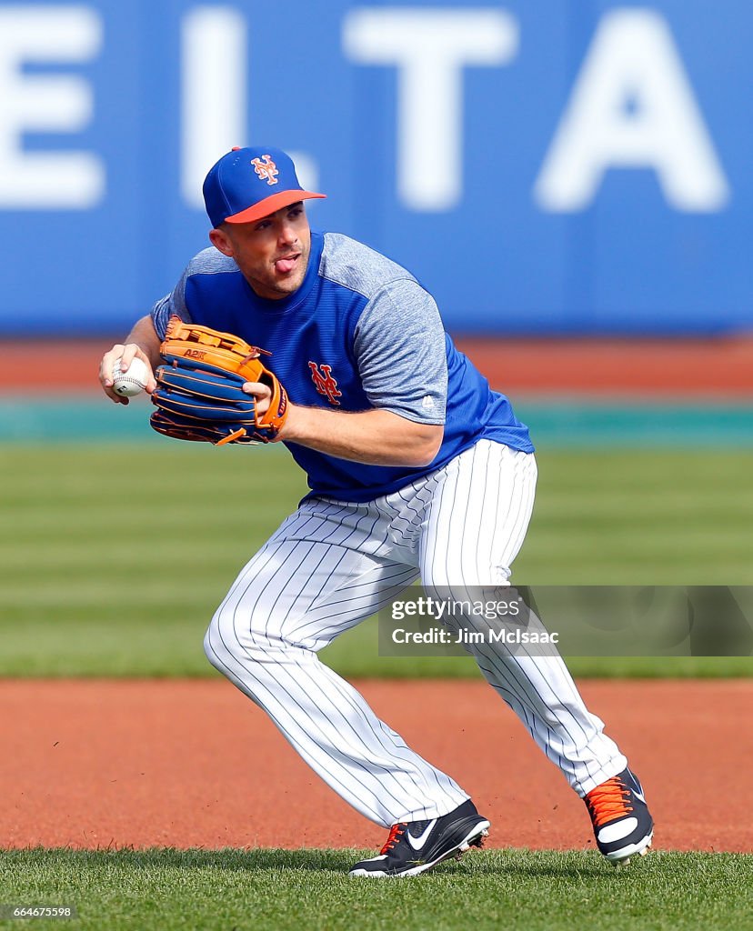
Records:
[[[746,585],[753,451],[543,452],[516,562],[529,585]],[[235,573],[305,492],[279,449],[0,447],[0,675],[203,676]],[[348,676],[477,675],[378,657],[366,623],[323,654]],[[573,660],[579,675],[746,675],[753,660]]]

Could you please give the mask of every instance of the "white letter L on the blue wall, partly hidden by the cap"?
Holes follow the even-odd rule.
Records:
[[[182,20],[181,61],[181,191],[203,208],[208,170],[246,144],[246,20],[232,7],[195,7]]]

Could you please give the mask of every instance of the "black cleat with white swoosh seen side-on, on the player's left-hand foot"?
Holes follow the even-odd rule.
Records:
[[[449,815],[431,821],[394,824],[377,857],[361,860],[351,876],[418,876],[448,857],[460,857],[468,847],[480,847],[489,834],[489,821],[468,799]]]

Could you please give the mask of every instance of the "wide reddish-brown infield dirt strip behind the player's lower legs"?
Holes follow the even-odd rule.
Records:
[[[587,849],[585,809],[480,681],[357,683],[490,817],[490,846]],[[585,681],[664,849],[749,852],[753,681]],[[0,681],[0,848],[375,847],[224,681]]]

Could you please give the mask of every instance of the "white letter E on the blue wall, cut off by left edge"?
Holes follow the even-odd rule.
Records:
[[[88,152],[24,152],[24,132],[78,132],[94,112],[91,88],[70,74],[23,74],[26,61],[90,61],[101,49],[91,7],[0,7],[0,209],[96,207],[104,166]]]

